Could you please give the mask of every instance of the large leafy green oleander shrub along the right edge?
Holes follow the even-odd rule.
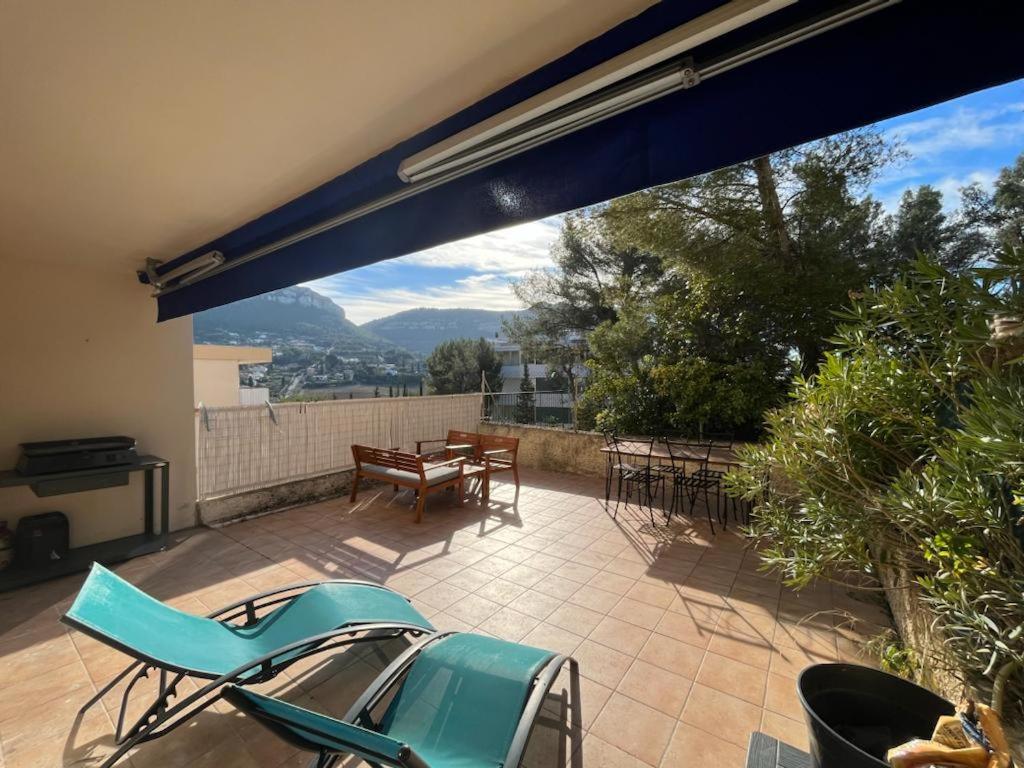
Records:
[[[727,480],[757,500],[751,534],[791,584],[912,574],[982,689],[1024,665],[1022,280],[1024,250],[962,274],[922,260],[856,300]]]

